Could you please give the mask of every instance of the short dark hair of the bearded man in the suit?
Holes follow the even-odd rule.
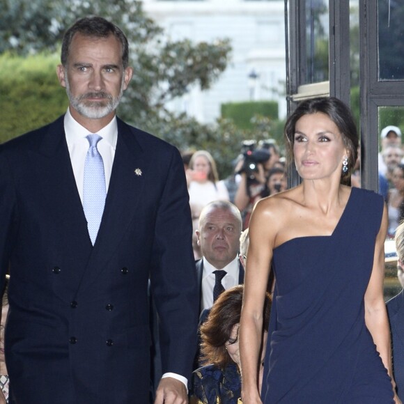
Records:
[[[102,17],[84,17],[70,26],[63,36],[61,51],[61,63],[63,66],[66,67],[68,63],[70,44],[76,33],[89,38],[108,38],[113,35],[121,42],[123,68],[125,69],[129,65],[129,45],[123,31]]]

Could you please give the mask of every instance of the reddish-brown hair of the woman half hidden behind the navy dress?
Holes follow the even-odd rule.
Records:
[[[240,323],[243,292],[243,285],[225,290],[213,304],[208,320],[201,325],[203,364],[215,364],[219,368],[224,368],[232,362],[226,351],[225,343],[230,339],[234,325]],[[263,309],[263,331],[268,330],[270,311],[270,295],[266,293]],[[236,341],[237,339],[231,343]]]

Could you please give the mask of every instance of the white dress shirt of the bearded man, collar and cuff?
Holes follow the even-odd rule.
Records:
[[[64,126],[70,162],[72,162],[72,169],[73,173],[75,174],[77,190],[79,191],[81,203],[83,203],[84,163],[86,162],[86,155],[88,147],[90,146],[86,136],[91,132],[88,132],[84,126],[81,126],[77,121],[75,121],[75,118],[72,117],[69,109],[65,114]],[[102,139],[98,141],[97,148],[104,162],[105,187],[108,192],[112,164],[114,163],[115,157],[116,141],[118,139],[118,125],[116,123],[116,116],[114,116],[112,121],[107,126],[103,127],[102,130],[99,130],[97,134],[102,137]],[[182,375],[178,375],[176,373],[164,373],[164,375],[162,375],[162,378],[168,377],[180,380],[185,384],[185,387],[187,387],[188,380]]]

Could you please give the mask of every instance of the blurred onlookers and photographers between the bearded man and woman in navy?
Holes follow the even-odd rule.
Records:
[[[194,232],[198,228],[201,209],[211,201],[231,201],[242,214],[242,229],[248,228],[251,212],[257,201],[265,196],[285,191],[288,187],[286,159],[277,141],[247,140],[242,143],[240,155],[234,157],[232,180],[219,180],[216,162],[208,150],[182,152],[187,176],[189,205]],[[195,243],[195,258],[201,251]]]

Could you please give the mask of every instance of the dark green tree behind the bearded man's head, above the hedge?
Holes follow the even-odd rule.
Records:
[[[226,69],[231,52],[226,39],[198,44],[169,40],[144,13],[141,1],[0,0],[0,9],[0,52],[58,49],[65,29],[84,15],[101,15],[121,26],[130,43],[134,77],[119,112],[132,123],[147,121],[150,111],[164,114],[166,102],[190,86],[209,88]]]

